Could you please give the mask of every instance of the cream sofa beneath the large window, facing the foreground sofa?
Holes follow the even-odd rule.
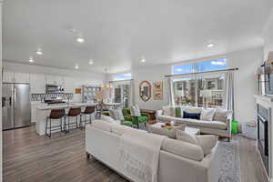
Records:
[[[181,112],[202,113],[204,108],[193,106],[180,106]],[[177,116],[177,106],[165,106],[162,110],[157,110],[157,122],[186,123],[187,126],[200,129],[202,134],[213,134],[217,136],[231,138],[231,114],[232,112],[225,109],[215,109],[214,116],[211,120],[183,118],[183,114]],[[168,110],[170,109],[170,110]],[[173,111],[172,111],[173,110]]]

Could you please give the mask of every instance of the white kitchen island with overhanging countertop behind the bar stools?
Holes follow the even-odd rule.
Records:
[[[54,104],[54,105],[47,105],[47,104],[41,104],[35,107],[35,122],[36,122],[36,132],[38,135],[43,136],[45,135],[45,121],[46,117],[50,115],[50,111],[52,109],[62,109],[64,108],[66,110],[66,114],[68,113],[69,108],[75,108],[80,107],[82,111],[85,110],[86,106],[96,106],[92,104],[86,104],[86,103],[66,103],[66,104]],[[93,116],[94,117],[94,116]],[[70,118],[71,122],[75,122],[75,118]],[[64,121],[64,120],[63,120]],[[79,116],[78,116],[78,122],[79,122]],[[64,123],[64,122],[63,122]],[[59,121],[52,120],[52,126],[58,126]],[[52,131],[52,133],[58,132]]]

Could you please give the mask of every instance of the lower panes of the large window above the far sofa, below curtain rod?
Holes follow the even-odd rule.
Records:
[[[225,74],[195,76],[173,80],[176,105],[223,107]]]

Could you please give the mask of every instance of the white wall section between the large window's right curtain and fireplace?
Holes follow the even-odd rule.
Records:
[[[258,94],[256,70],[263,63],[263,48],[235,52],[227,56],[229,67],[238,67],[235,73],[235,119],[241,123],[256,120],[257,108],[253,95]]]

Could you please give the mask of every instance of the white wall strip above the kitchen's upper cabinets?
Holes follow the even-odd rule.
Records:
[[[102,85],[106,81],[105,74],[88,73],[81,70],[68,70],[49,66],[35,66],[8,61],[4,61],[3,66],[5,72],[71,77],[72,79],[70,80],[73,80],[73,85],[75,87],[81,87],[82,85]],[[81,95],[74,95],[75,102],[81,102],[81,99]]]

